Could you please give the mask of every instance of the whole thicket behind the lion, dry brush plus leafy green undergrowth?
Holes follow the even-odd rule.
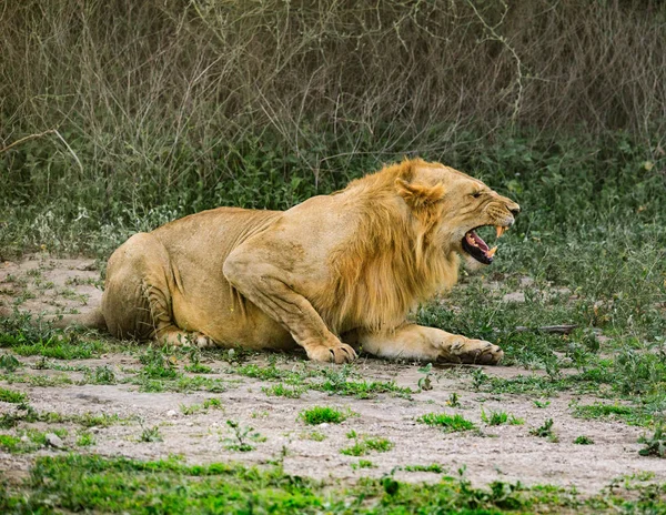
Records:
[[[108,253],[405,154],[654,214],[665,36],[657,0],[2,2],[0,254]]]

